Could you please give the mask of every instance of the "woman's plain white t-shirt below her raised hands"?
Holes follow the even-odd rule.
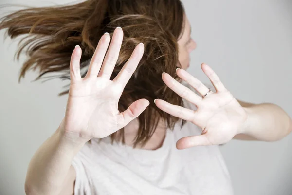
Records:
[[[186,107],[195,110],[190,103]],[[176,149],[176,141],[200,135],[186,122],[167,130],[157,150],[133,149],[110,138],[92,139],[74,157],[75,195],[233,195],[218,146]]]

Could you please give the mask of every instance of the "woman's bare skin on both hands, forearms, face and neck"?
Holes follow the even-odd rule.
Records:
[[[189,31],[186,32],[189,34]],[[71,163],[73,157],[91,138],[109,136],[126,126],[126,144],[131,145],[136,132],[135,118],[146,109],[149,101],[139,99],[126,111],[118,111],[119,98],[144,52],[144,45],[137,45],[118,76],[111,81],[110,75],[118,59],[122,39],[121,28],[114,31],[111,44],[109,34],[101,38],[85,78],[80,75],[81,48],[76,46],[73,50],[66,113],[55,133],[40,146],[31,159],[25,181],[26,194],[72,195],[76,174]],[[195,44],[183,45],[183,38],[179,41],[180,62],[184,68],[189,64],[189,52],[194,49]],[[109,52],[106,54],[109,44]],[[292,120],[282,108],[270,103],[256,105],[240,102],[224,87],[211,67],[202,64],[201,68],[216,89],[216,92],[211,92],[204,98],[185,88],[167,73],[162,75],[170,89],[198,107],[193,111],[163,100],[155,101],[163,111],[192,122],[202,129],[200,136],[180,139],[177,148],[223,144],[237,135],[275,141],[291,132]],[[209,91],[201,81],[185,70],[177,69],[177,75],[199,94],[205,95]],[[164,136],[165,128],[161,124],[145,149],[160,147]]]

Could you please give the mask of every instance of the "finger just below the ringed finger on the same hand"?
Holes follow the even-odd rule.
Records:
[[[195,94],[192,90],[187,88],[186,86],[183,86],[181,83],[176,81],[174,78],[172,78],[169,74],[163,73],[162,79],[164,83],[175,93],[177,93],[180,97],[186,99],[187,101],[199,105],[201,103],[201,98],[197,94]]]

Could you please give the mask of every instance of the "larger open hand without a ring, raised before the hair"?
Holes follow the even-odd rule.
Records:
[[[149,105],[148,100],[139,99],[126,111],[118,111],[119,98],[144,53],[144,45],[140,43],[117,77],[111,81],[122,40],[123,30],[119,27],[114,31],[111,43],[108,33],[101,37],[85,78],[80,74],[81,48],[76,46],[73,50],[69,97],[66,114],[60,125],[66,137],[86,141],[107,137],[138,117]]]

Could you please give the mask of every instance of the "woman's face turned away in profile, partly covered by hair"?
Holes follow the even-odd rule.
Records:
[[[190,66],[190,53],[196,49],[196,42],[191,38],[191,25],[187,17],[185,17],[185,27],[183,35],[178,40],[179,45],[179,62],[182,68],[186,70]]]

